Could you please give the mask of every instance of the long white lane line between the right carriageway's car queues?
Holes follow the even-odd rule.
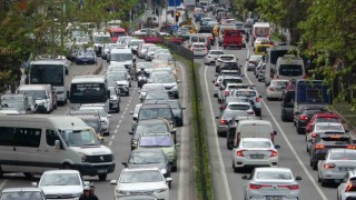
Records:
[[[248,46],[246,46],[248,53],[249,54],[249,48]],[[247,76],[247,62],[245,63],[245,77],[247,78],[248,82],[250,84],[253,84],[253,81],[249,79],[249,77]],[[257,91],[258,93],[258,91]],[[271,119],[274,120],[274,122],[276,123],[280,134],[283,136],[283,138],[285,139],[285,141],[287,142],[290,151],[293,152],[294,157],[297,159],[299,166],[303,168],[304,172],[307,174],[307,177],[309,178],[309,180],[312,181],[313,186],[316,188],[317,192],[320,194],[320,197],[323,198],[323,200],[327,200],[327,197],[325,196],[325,193],[323,192],[323,190],[320,189],[319,184],[314,180],[313,176],[310,174],[310,172],[308,171],[308,169],[306,168],[306,166],[303,163],[300,157],[298,156],[297,151],[294,149],[294,147],[291,146],[288,137],[286,136],[286,133],[283,131],[281,127],[279,126],[278,121],[276,120],[275,116],[273,114],[273,112],[270,111],[270,109],[267,107],[267,103],[261,100],[261,103],[266,107],[267,112],[269,113],[269,116],[271,117]]]

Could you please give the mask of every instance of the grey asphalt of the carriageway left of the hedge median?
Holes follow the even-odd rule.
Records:
[[[98,59],[99,64],[101,59]],[[138,60],[138,62],[141,60]],[[103,61],[102,64],[107,67],[107,62]],[[182,200],[182,199],[195,199],[195,187],[194,187],[194,169],[191,152],[192,152],[192,139],[190,134],[190,103],[189,103],[189,86],[187,80],[187,71],[185,66],[177,63],[179,70],[179,97],[180,103],[182,107],[186,107],[185,110],[185,126],[178,128],[177,142],[181,144],[178,149],[178,171],[172,173],[172,187],[170,190],[170,199],[172,200]],[[98,66],[76,66],[72,64],[69,68],[69,74],[66,79],[68,86],[72,77],[78,74],[92,73]],[[103,73],[103,71],[101,72]],[[116,170],[113,173],[108,174],[106,181],[99,181],[97,177],[83,177],[85,180],[93,182],[96,186],[96,193],[99,199],[109,200],[113,199],[115,186],[110,184],[110,180],[118,179],[123,166],[121,162],[127,161],[130,152],[130,136],[128,134],[131,129],[131,119],[132,116],[129,114],[130,111],[134,111],[134,108],[139,103],[138,99],[139,88],[137,82],[132,81],[132,87],[130,88],[129,97],[121,97],[121,111],[119,113],[111,113],[110,119],[110,136],[105,138],[105,146],[109,147],[113,154],[116,161]],[[70,103],[67,103],[63,107],[58,107],[56,111],[51,114],[68,114],[70,111]],[[11,173],[4,174],[0,179],[0,191],[4,188],[13,187],[30,187],[31,182],[39,181],[40,176],[34,178],[24,178],[22,173]]]

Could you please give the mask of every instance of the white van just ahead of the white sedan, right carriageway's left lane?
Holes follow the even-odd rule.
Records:
[[[237,146],[241,138],[269,138],[275,142],[274,128],[267,120],[241,120],[236,128],[234,144]]]

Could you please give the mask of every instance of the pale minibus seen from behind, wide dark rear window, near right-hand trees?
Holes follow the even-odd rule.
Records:
[[[301,58],[294,54],[279,57],[276,63],[276,79],[298,80],[305,77],[305,67]]]

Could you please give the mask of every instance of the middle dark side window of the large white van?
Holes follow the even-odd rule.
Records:
[[[37,148],[41,141],[41,129],[16,128],[17,146]]]

